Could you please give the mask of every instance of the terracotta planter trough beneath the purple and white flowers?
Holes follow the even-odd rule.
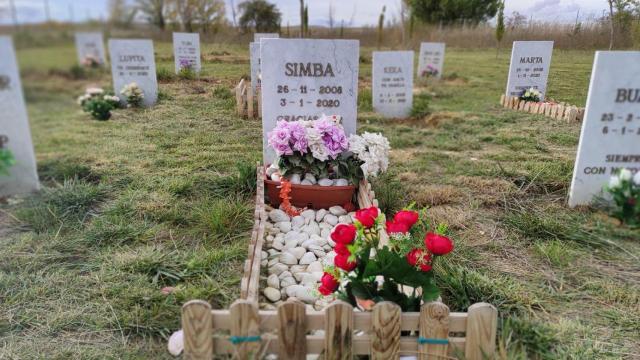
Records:
[[[280,206],[280,182],[264,180],[264,185],[271,206]],[[350,203],[356,191],[354,185],[347,186],[320,186],[320,185],[295,185],[291,184],[291,204],[298,208],[328,209],[332,206],[343,206]]]

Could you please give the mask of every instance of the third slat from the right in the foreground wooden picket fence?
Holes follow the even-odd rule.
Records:
[[[390,360],[400,358],[400,306],[383,301],[373,307],[371,313],[371,359]]]

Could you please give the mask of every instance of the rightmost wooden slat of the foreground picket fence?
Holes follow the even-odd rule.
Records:
[[[467,360],[493,358],[497,328],[498,311],[493,305],[477,303],[469,306],[465,345]]]

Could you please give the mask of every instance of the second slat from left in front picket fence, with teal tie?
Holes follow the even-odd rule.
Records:
[[[236,300],[229,307],[231,316],[231,336],[241,339],[235,344],[238,359],[257,359],[260,353],[260,341],[246,341],[252,336],[260,336],[260,317],[255,302]],[[244,339],[244,340],[242,340]]]

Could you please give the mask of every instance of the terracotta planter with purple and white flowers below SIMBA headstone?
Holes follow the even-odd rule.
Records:
[[[273,206],[328,208],[351,203],[360,180],[386,171],[389,142],[380,134],[347,138],[338,116],[314,121],[279,121],[268,134],[278,155],[267,168]]]

